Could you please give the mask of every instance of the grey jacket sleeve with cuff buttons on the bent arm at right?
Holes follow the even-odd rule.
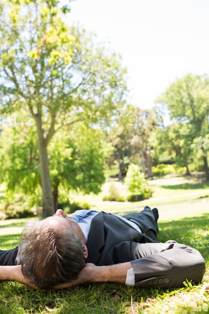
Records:
[[[205,271],[205,262],[196,249],[171,240],[135,243],[132,254],[131,264],[138,287],[182,287],[186,279],[200,282]]]

